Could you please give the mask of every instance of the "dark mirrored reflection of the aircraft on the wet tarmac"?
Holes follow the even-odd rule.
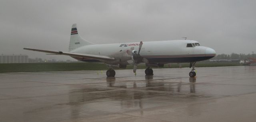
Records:
[[[86,106],[97,106],[93,103],[98,101],[119,101],[120,109],[122,108],[139,108],[140,114],[143,115],[143,103],[145,98],[150,98],[152,95],[159,95],[155,91],[167,91],[170,93],[187,92],[190,89],[191,93],[196,92],[196,78],[189,78],[184,82],[184,78],[180,78],[180,82],[170,82],[166,80],[154,79],[151,76],[145,76],[145,81],[117,81],[118,78],[106,78],[106,87],[88,87],[76,86],[76,89],[70,90],[69,102],[70,117],[72,119],[80,118],[80,111],[84,110]],[[117,89],[109,89],[109,88]],[[182,87],[184,87],[182,89]],[[146,90],[146,91],[145,91]],[[164,94],[166,95],[166,94]],[[172,95],[172,94],[170,94]],[[115,103],[115,102],[114,102]]]

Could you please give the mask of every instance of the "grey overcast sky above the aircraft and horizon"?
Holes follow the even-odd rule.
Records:
[[[256,51],[256,0],[0,0],[0,53],[71,59],[22,48],[68,51],[70,30],[91,42],[188,37],[217,54]]]

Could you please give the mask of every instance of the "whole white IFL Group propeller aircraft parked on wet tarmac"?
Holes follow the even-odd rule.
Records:
[[[190,63],[192,70],[190,77],[195,77],[196,61],[210,59],[216,55],[214,49],[201,46],[198,41],[172,40],[172,41],[148,41],[113,44],[94,44],[80,37],[76,24],[72,25],[69,52],[49,51],[42,49],[24,48],[26,50],[51,53],[56,55],[69,55],[74,59],[85,62],[103,62],[109,67],[106,72],[108,77],[114,77],[113,68],[126,68],[133,64],[133,72],[136,73],[137,65],[145,63],[146,75],[153,75],[151,67],[163,67],[166,63]]]

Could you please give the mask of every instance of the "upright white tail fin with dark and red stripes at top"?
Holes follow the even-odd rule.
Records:
[[[69,42],[69,51],[76,49],[78,47],[82,47],[84,45],[92,45],[93,43],[86,41],[78,34],[78,30],[76,28],[76,24],[72,25],[70,42]]]

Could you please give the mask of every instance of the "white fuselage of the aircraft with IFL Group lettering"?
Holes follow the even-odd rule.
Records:
[[[187,47],[188,43],[198,43],[198,41],[172,40],[143,42],[140,55],[148,59],[150,63],[179,63],[202,61],[210,59],[216,55],[216,52],[209,47]],[[138,51],[139,44],[140,42],[85,45],[74,49],[71,52],[111,56],[114,53],[126,49],[134,49]],[[97,60],[94,59],[76,59],[81,61],[97,62]]]

